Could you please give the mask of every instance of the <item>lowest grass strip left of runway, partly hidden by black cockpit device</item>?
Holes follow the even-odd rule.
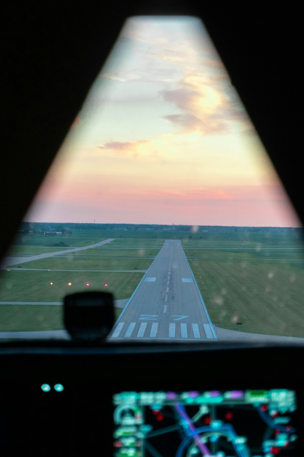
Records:
[[[122,308],[114,308],[115,321],[121,312]],[[1,332],[64,329],[63,307],[60,305],[1,305],[0,316]]]

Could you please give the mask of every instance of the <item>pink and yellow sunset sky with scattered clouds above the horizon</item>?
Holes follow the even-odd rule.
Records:
[[[301,226],[193,17],[125,22],[25,219]]]

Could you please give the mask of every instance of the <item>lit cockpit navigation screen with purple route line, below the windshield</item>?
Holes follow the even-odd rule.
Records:
[[[295,456],[295,392],[122,392],[113,395],[115,457]]]

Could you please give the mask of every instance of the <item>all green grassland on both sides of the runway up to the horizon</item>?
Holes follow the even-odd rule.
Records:
[[[0,301],[60,302],[67,293],[88,290],[86,282],[90,290],[129,298],[142,273],[57,270],[146,270],[165,239],[181,239],[213,323],[244,332],[304,337],[304,244],[296,231],[73,230],[64,237],[18,236],[10,255],[64,250],[108,238],[113,242],[100,248],[63,252],[23,263],[18,271],[3,271]],[[61,241],[68,246],[53,246]],[[25,268],[50,271],[22,271]],[[57,306],[0,305],[0,330],[59,329],[61,312]]]

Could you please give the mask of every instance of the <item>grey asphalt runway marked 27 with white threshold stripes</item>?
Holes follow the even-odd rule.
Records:
[[[110,338],[217,340],[179,240],[165,241]]]

